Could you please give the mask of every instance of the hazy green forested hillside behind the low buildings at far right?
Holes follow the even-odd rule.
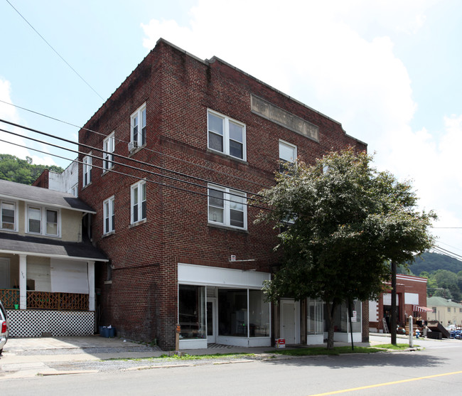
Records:
[[[439,253],[426,252],[409,267],[412,275],[426,277],[429,296],[462,300],[462,261]],[[405,270],[401,271],[406,274]]]

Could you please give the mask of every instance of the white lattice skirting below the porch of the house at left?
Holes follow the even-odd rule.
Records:
[[[95,333],[95,312],[7,310],[10,337],[90,336]]]

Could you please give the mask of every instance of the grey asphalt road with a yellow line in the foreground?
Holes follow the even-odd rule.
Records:
[[[185,362],[149,370],[4,379],[0,394],[458,395],[461,361],[462,341],[453,340],[406,352]]]

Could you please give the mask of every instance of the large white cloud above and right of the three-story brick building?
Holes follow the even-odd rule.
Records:
[[[337,119],[377,151],[379,168],[412,178],[422,207],[449,226],[462,223],[461,117],[445,119],[441,139],[413,131],[418,103],[394,53],[394,40],[419,34],[438,2],[203,0],[190,10],[188,26],[155,19],[143,25],[144,46],[163,37],[200,58],[217,55]],[[447,235],[450,245],[462,245],[462,235]]]

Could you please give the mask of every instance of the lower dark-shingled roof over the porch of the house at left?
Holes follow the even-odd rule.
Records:
[[[0,253],[109,261],[101,250],[90,243],[24,237],[9,232],[0,232]]]

